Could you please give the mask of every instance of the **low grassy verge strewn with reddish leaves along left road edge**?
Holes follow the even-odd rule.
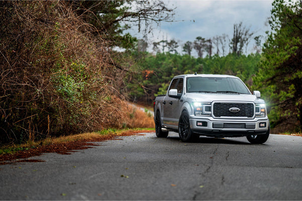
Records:
[[[70,154],[74,150],[82,150],[98,146],[94,142],[119,140],[122,136],[145,135],[142,133],[154,132],[150,129],[105,129],[100,132],[78,135],[46,138],[40,141],[28,141],[22,144],[7,145],[0,148],[0,165],[17,162],[43,162],[42,160],[28,159],[42,153]],[[139,134],[138,134],[139,133]]]

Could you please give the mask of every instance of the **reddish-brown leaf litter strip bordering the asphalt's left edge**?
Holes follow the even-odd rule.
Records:
[[[91,142],[101,142],[106,140],[114,140],[120,136],[131,136],[138,133],[154,133],[154,131],[128,131],[121,134],[108,134],[100,135],[99,137],[89,139],[78,139],[76,141],[62,142],[57,144],[41,145],[29,150],[18,151],[14,154],[2,154],[0,155],[0,165],[11,164],[16,162],[43,162],[42,160],[30,160],[26,159],[32,156],[39,156],[43,153],[58,153],[58,154],[71,154],[73,150],[81,150],[92,148],[91,146],[98,146]],[[144,135],[144,134],[139,134]],[[17,160],[18,159],[18,160]],[[24,160],[19,160],[24,159]]]

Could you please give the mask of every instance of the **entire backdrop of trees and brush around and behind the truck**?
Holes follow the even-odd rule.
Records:
[[[1,143],[134,127],[128,102],[152,107],[173,76],[194,72],[240,77],[261,91],[273,132],[302,129],[300,1],[273,2],[266,36],[239,23],[184,43],[125,32],[172,22],[164,1],[2,1],[0,11]]]

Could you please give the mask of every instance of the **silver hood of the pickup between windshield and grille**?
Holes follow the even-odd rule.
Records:
[[[213,101],[243,101],[243,102],[258,102],[264,103],[260,98],[251,94],[234,94],[234,93],[186,93],[185,94],[192,102],[213,102]]]

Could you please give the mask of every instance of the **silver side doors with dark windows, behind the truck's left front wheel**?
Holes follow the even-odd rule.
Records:
[[[183,93],[183,78],[175,78],[172,80],[172,83],[168,89],[177,89],[178,95]],[[180,98],[181,99],[181,98]],[[180,116],[180,109],[182,106],[181,100],[178,98],[170,97],[168,94],[165,96],[164,99],[164,126],[172,127],[177,129],[178,128],[178,120]]]

